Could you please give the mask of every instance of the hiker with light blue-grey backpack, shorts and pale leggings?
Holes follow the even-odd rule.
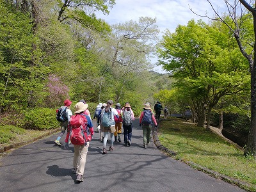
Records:
[[[110,133],[110,146],[109,151],[114,150],[114,132],[115,132],[115,119],[119,118],[118,113],[115,108],[112,108],[113,106],[113,100],[107,101],[106,108],[102,111],[101,114],[101,124],[103,126],[103,132],[104,132],[104,141],[103,141],[103,152],[102,154],[106,154],[107,150],[107,141],[108,141],[108,133]]]

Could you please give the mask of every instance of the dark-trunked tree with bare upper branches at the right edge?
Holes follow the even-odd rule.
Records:
[[[211,1],[207,0],[210,4]],[[240,3],[239,3],[240,2]],[[228,8],[228,15],[230,15],[232,22],[226,22],[221,15],[218,14],[216,9],[212,6],[212,9],[216,13],[216,19],[220,22],[223,22],[227,26],[228,29],[233,33],[234,38],[236,39],[237,45],[243,54],[244,58],[248,60],[248,64],[250,67],[250,76],[251,76],[251,123],[250,123],[250,131],[248,135],[248,143],[244,150],[244,155],[253,155],[256,156],[256,10],[255,4],[252,1],[247,3],[244,0],[234,0],[234,4],[231,4],[229,1],[225,0],[225,4]],[[245,7],[244,8],[242,7]],[[247,12],[246,12],[247,10]],[[250,12],[251,14],[248,14]],[[200,15],[201,16],[201,15]],[[205,15],[204,17],[208,17]],[[212,19],[208,17],[209,19]],[[253,20],[253,33],[250,38],[246,38],[244,36],[244,31],[248,31],[250,26],[243,28],[243,24],[248,20]],[[254,38],[253,38],[254,37]],[[254,59],[253,59],[254,58]]]

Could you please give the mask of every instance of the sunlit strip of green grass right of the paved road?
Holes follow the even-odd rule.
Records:
[[[172,118],[162,121],[159,130],[161,144],[176,152],[174,157],[186,163],[193,162],[209,170],[250,184],[243,186],[256,191],[256,159],[244,157],[243,151],[220,136],[195,124]]]

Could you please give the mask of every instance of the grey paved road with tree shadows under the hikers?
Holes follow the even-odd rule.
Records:
[[[118,143],[113,152],[103,155],[99,133],[95,133],[88,149],[84,182],[77,184],[72,173],[74,148],[65,150],[54,145],[57,135],[1,157],[0,191],[244,191],[165,156],[153,142],[143,148],[138,119],[131,147]]]

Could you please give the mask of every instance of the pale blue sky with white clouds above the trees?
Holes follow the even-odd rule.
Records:
[[[211,0],[212,6],[219,10],[225,10],[224,0]],[[116,4],[112,9],[109,9],[109,15],[97,13],[97,17],[104,19],[108,24],[125,23],[129,20],[138,21],[139,17],[156,18],[157,26],[160,30],[159,37],[163,36],[166,29],[174,32],[179,24],[187,25],[191,19],[202,19],[209,22],[206,17],[198,15],[214,16],[211,4],[207,0],[116,0]],[[222,11],[223,12],[223,11]],[[157,58],[152,58],[151,63],[155,64]],[[165,73],[160,66],[154,67],[154,70],[159,73]]]

